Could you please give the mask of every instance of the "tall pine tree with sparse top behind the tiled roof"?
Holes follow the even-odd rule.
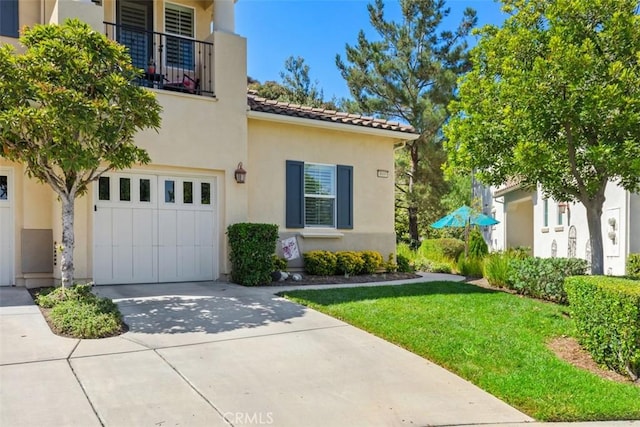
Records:
[[[441,164],[441,128],[449,114],[456,80],[468,69],[466,37],[476,23],[467,8],[455,31],[441,30],[450,10],[444,0],[400,0],[402,22],[387,21],[382,0],[368,5],[380,36],[369,41],[360,31],[336,65],[361,110],[411,124],[420,136],[405,144],[396,171],[400,203],[407,210],[411,239],[420,238],[419,216],[436,219],[446,192]],[[434,209],[435,207],[435,209]]]

